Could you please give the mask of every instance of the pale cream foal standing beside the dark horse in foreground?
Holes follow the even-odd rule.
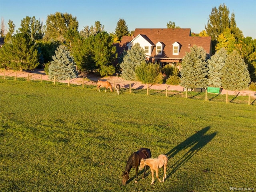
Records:
[[[139,170],[142,170],[144,168],[144,166],[148,165],[150,167],[151,170],[151,174],[152,174],[152,182],[151,184],[154,183],[154,170],[156,171],[156,177],[158,178],[158,180],[160,182],[162,182],[159,177],[158,177],[158,168],[161,168],[162,166],[164,166],[164,177],[166,178],[166,165],[168,162],[168,157],[167,155],[161,154],[158,156],[158,158],[148,158],[148,159],[142,159],[140,160],[140,168]],[[163,177],[163,182],[164,182],[164,177]]]

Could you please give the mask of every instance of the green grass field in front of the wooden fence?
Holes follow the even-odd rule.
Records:
[[[95,90],[0,79],[1,192],[256,190],[255,105]],[[142,147],[168,156],[166,181],[132,168],[122,186]]]

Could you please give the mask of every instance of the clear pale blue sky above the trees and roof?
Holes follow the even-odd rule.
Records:
[[[256,38],[256,0],[0,0],[0,16],[12,20],[16,30],[26,16],[45,21],[55,12],[76,16],[78,30],[96,21],[107,32],[114,32],[119,18],[129,30],[135,28],[166,28],[169,21],[181,28],[199,33],[205,29],[212,8],[226,4],[234,12],[238,28],[244,36]]]

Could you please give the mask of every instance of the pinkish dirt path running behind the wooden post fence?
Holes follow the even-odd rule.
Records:
[[[17,78],[20,78],[20,77],[28,78],[29,76],[30,80],[40,80],[42,78],[42,80],[51,81],[49,80],[48,75],[45,74],[43,69],[35,69],[31,71],[0,70],[0,76],[4,76],[4,75],[17,76]],[[92,74],[88,74],[88,76],[84,78],[84,84],[96,86],[98,80],[108,80],[112,84],[112,86],[114,86],[114,84],[120,84],[121,88],[129,88],[130,84],[132,89],[147,88],[146,84],[142,84],[137,81],[127,81],[122,79],[120,76],[108,76],[108,77],[100,78]],[[60,81],[60,82],[68,83],[68,80]],[[79,76],[77,78],[70,80],[70,84],[81,85],[82,83],[83,83],[82,76]],[[148,86],[149,86],[149,89],[154,89],[154,90],[166,90],[167,88],[168,91],[180,91],[180,92],[183,91],[182,86],[173,86],[173,85],[166,85],[166,84],[155,84],[155,85],[149,84]],[[228,92],[228,95],[238,95],[238,96],[241,96],[241,95],[246,96],[250,94],[251,97],[256,98],[255,91],[242,90],[242,91],[236,92],[236,91],[222,89],[220,94],[226,94],[226,92]]]

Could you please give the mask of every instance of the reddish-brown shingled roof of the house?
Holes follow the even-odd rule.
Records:
[[[138,34],[146,36],[154,45],[156,45],[157,42],[164,44],[162,55],[155,54],[156,47],[154,46],[151,54],[154,58],[183,58],[186,52],[190,52],[189,47],[194,45],[203,47],[208,54],[211,54],[211,37],[191,36],[189,28],[136,28],[133,38],[138,36]],[[127,45],[129,40],[132,40],[131,36],[123,36],[120,44],[122,44],[122,46]],[[181,45],[179,55],[172,54],[172,44],[175,42]]]

